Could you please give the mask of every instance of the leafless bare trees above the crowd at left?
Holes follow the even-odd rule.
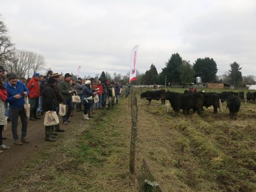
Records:
[[[44,69],[46,62],[43,55],[33,51],[17,50],[8,36],[8,29],[0,15],[0,65],[13,72],[18,78],[29,77]]]

